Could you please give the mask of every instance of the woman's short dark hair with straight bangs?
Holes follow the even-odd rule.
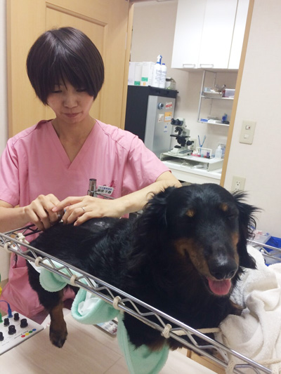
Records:
[[[56,84],[65,80],[96,98],[104,81],[103,59],[83,32],[73,27],[41,34],[27,55],[27,75],[45,105]]]

